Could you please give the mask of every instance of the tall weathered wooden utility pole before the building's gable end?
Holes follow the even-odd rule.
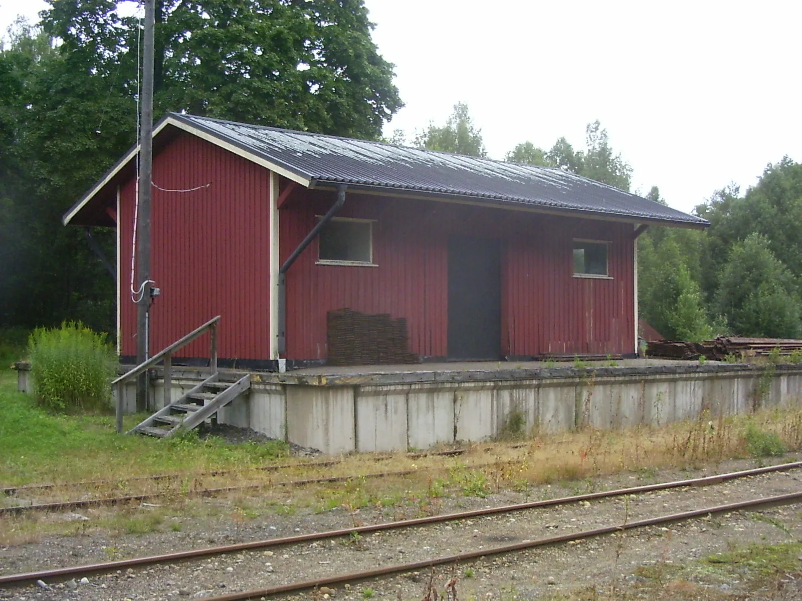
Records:
[[[153,46],[156,0],[144,0],[145,22],[142,50],[142,91],[140,92],[140,186],[136,226],[136,273],[142,294],[136,311],[136,363],[148,360],[149,314],[152,303],[150,276],[150,205],[153,166]],[[148,409],[148,373],[136,382],[136,410]]]

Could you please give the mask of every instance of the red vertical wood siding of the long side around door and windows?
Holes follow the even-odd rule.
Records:
[[[294,192],[279,212],[282,260],[333,202]],[[452,233],[501,241],[502,354],[634,352],[632,224],[355,194],[338,215],[376,220],[378,267],[317,265],[310,244],[286,276],[287,358],[326,358],[326,312],[344,307],[406,317],[412,352],[448,356]],[[610,242],[612,279],[573,277],[574,238]]]

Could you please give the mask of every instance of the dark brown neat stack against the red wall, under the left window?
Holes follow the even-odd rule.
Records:
[[[350,309],[326,314],[328,365],[419,363],[408,349],[407,320],[387,313],[368,315]]]

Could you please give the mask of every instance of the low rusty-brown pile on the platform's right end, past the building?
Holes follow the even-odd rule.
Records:
[[[764,357],[779,349],[780,357],[802,353],[802,340],[788,338],[718,337],[703,342],[656,341],[646,346],[646,355],[671,359],[695,360],[706,357],[724,361],[728,357]]]

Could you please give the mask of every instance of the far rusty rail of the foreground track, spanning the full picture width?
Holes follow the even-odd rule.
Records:
[[[373,524],[369,526],[354,526],[350,528],[341,528],[338,530],[327,530],[325,532],[297,534],[294,536],[286,536],[282,538],[268,538],[265,540],[250,541],[248,543],[234,543],[232,545],[223,545],[220,547],[206,547],[204,549],[178,551],[176,553],[168,553],[164,555],[149,555],[134,559],[119,559],[112,562],[94,563],[75,567],[56,568],[55,570],[35,571],[35,572],[28,572],[25,574],[15,574],[6,576],[0,575],[0,585],[35,582],[36,580],[39,579],[46,580],[54,578],[64,578],[66,576],[75,576],[82,574],[95,574],[97,572],[115,571],[121,568],[145,566],[154,563],[180,561],[183,559],[192,559],[196,557],[205,557],[209,555],[224,555],[226,553],[234,553],[237,551],[249,551],[253,549],[263,549],[265,547],[279,547],[282,545],[305,543],[306,541],[323,540],[325,538],[338,538],[341,536],[348,536],[354,533],[362,534],[367,532],[378,532],[380,530],[394,530],[410,526],[423,526],[437,522],[452,522],[454,520],[475,518],[484,515],[510,513],[513,511],[536,509],[538,507],[568,505],[569,503],[589,501],[593,499],[620,497],[627,494],[643,494],[643,493],[653,492],[654,490],[670,490],[672,488],[682,488],[685,486],[712,486],[715,484],[721,484],[723,482],[727,482],[728,480],[735,480],[738,478],[748,478],[751,476],[757,476],[760,474],[768,474],[773,472],[795,470],[800,467],[802,467],[802,462],[782,463],[776,466],[765,466],[765,467],[755,468],[753,470],[742,470],[737,472],[729,472],[727,474],[716,474],[713,476],[705,476],[703,478],[675,480],[672,482],[660,482],[657,484],[646,484],[644,486],[631,486],[630,488],[606,490],[597,493],[578,494],[571,497],[557,497],[557,498],[545,499],[542,501],[518,503],[516,505],[486,507],[484,509],[460,511],[458,513],[452,513],[452,514],[433,515],[426,518],[414,518],[408,520],[399,520],[396,522],[382,522],[379,524]]]

